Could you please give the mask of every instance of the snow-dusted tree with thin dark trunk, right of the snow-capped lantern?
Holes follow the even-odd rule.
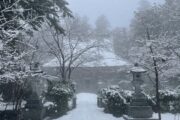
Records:
[[[179,74],[179,6],[179,0],[166,0],[163,5],[139,10],[131,24],[136,46],[131,49],[131,55],[136,56],[149,70],[150,78],[155,79],[157,104],[162,80]]]

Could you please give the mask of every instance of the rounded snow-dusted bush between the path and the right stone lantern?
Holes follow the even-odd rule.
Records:
[[[102,107],[105,112],[112,113],[115,116],[127,114],[128,105],[132,99],[133,91],[121,90],[119,87],[111,86],[100,90],[98,97],[102,98]],[[155,102],[151,96],[144,93],[147,102],[155,109]]]

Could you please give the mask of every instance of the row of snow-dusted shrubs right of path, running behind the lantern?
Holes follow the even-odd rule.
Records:
[[[180,113],[180,94],[171,90],[160,90],[160,105],[162,112]],[[115,116],[121,116],[127,113],[127,106],[132,99],[133,91],[120,90],[118,87],[103,88],[99,92],[99,98],[102,98],[102,107],[105,112],[112,113]],[[148,104],[156,112],[156,97],[144,93]]]

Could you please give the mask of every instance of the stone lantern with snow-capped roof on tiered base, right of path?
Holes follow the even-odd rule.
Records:
[[[141,89],[144,83],[142,75],[145,72],[146,70],[139,67],[138,64],[135,64],[131,69],[133,74],[133,81],[131,83],[134,87],[134,94],[128,108],[128,115],[124,116],[125,120],[157,120],[152,118],[152,107],[148,105],[147,98]]]

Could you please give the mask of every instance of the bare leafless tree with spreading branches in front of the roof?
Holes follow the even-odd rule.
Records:
[[[83,26],[82,26],[83,24]],[[89,25],[80,17],[63,20],[65,34],[58,34],[47,26],[42,31],[42,38],[58,64],[60,79],[69,81],[73,70],[84,62],[90,60],[87,52],[95,47],[91,40]]]

